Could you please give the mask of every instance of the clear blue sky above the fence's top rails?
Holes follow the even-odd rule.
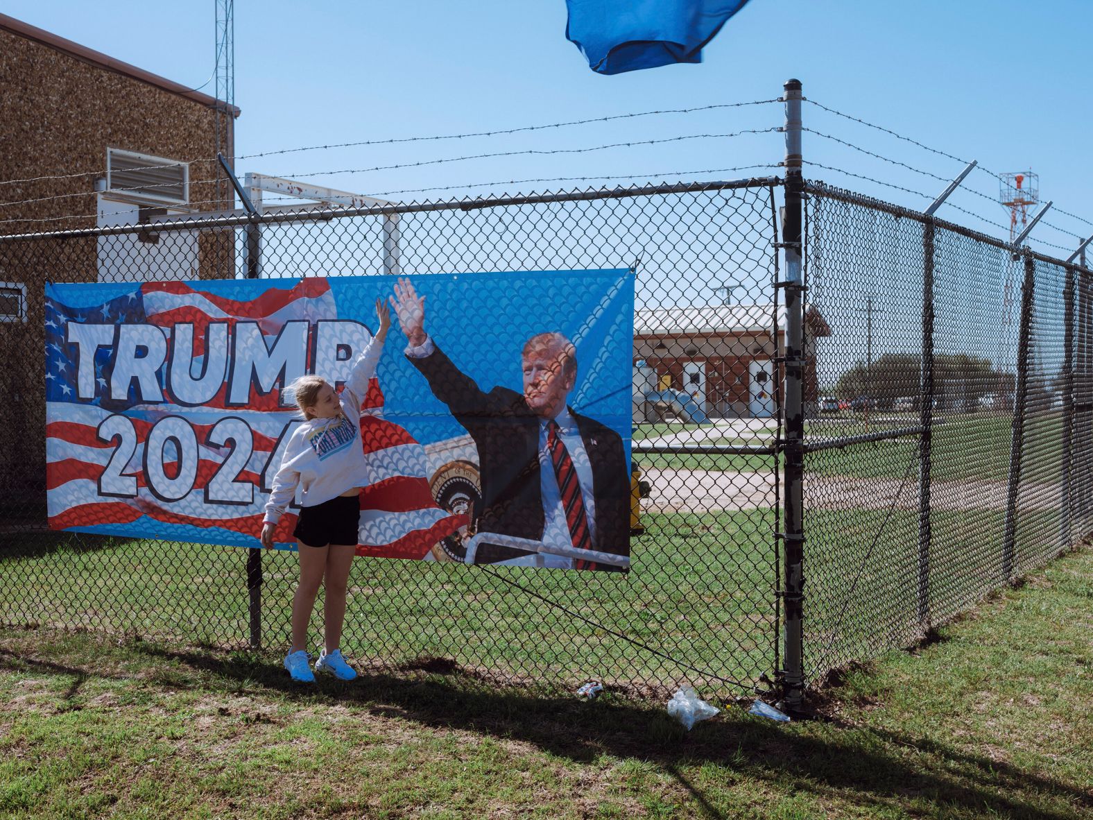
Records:
[[[213,69],[213,0],[8,0],[4,12],[189,85],[203,83]],[[787,78],[797,77],[806,96],[832,108],[956,156],[977,159],[994,171],[1031,167],[1039,174],[1042,199],[1054,199],[1056,207],[1093,222],[1093,204],[1085,196],[1093,187],[1089,0],[752,0],[706,48],[703,63],[615,77],[588,69],[565,39],[565,22],[563,0],[237,0],[235,103],[243,116],[236,153],[768,99],[779,95]],[[205,90],[213,89],[210,84]],[[960,163],[813,106],[806,106],[804,115],[808,127],[922,171],[951,177],[961,168]],[[781,106],[773,104],[489,139],[240,159],[238,171],[299,176],[495,151],[720,134],[778,126],[781,119]],[[532,177],[633,174],[646,181],[679,178],[671,172],[776,163],[783,153],[780,134],[768,133],[309,178],[374,195]],[[804,153],[814,162],[931,196],[943,187],[810,133]],[[731,178],[750,173],[776,172],[682,176]],[[910,194],[837,172],[812,168],[809,175],[902,204],[926,204]],[[987,175],[974,174],[971,180],[997,197],[998,186]],[[502,184],[391,198],[576,185]],[[1007,221],[1000,206],[972,195],[962,192],[952,201],[995,222]],[[1002,234],[955,211],[942,215]],[[1076,234],[1093,232],[1093,226],[1063,214],[1047,219]],[[1051,229],[1037,229],[1036,236],[1068,247],[1077,244]]]

